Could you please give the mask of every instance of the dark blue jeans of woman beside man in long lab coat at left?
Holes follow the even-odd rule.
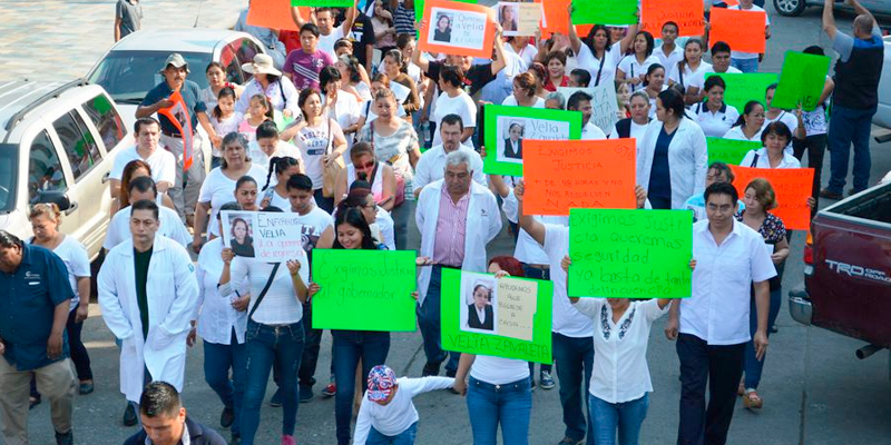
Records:
[[[232,380],[229,380],[232,368]],[[238,344],[235,329],[228,345],[204,342],[204,379],[210,389],[219,396],[223,405],[232,407],[235,421],[232,434],[241,435],[242,402],[244,400],[244,380],[247,374],[247,345]]]

